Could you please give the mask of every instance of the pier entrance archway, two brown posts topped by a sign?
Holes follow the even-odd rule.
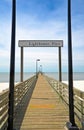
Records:
[[[63,40],[19,40],[18,46],[21,47],[21,82],[23,82],[23,47],[58,47],[59,48],[59,81],[62,80],[61,74],[61,47]]]

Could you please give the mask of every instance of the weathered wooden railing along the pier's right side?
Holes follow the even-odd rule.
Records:
[[[45,76],[52,88],[59,94],[60,98],[69,105],[68,85],[53,78]],[[77,125],[84,129],[84,92],[74,88],[74,113]]]

